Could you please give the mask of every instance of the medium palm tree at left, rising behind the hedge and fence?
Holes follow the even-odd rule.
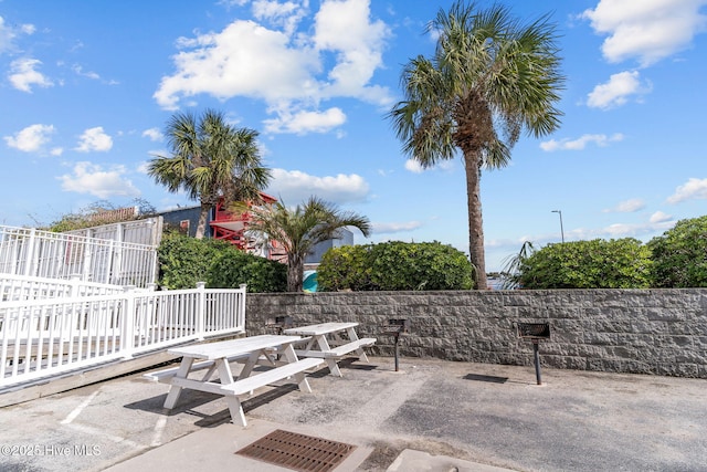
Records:
[[[203,238],[209,212],[220,199],[257,201],[267,186],[270,170],[261,162],[257,132],[229,125],[220,112],[175,114],[166,136],[172,156],[157,156],[148,174],[169,191],[184,189],[199,200],[197,239]]]

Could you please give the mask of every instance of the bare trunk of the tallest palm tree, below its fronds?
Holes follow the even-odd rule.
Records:
[[[464,150],[466,169],[466,204],[468,208],[468,252],[474,265],[476,290],[486,290],[486,259],[484,256],[484,222],[481,199],[481,151]]]

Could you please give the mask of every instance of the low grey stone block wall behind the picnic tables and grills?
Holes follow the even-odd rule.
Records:
[[[400,354],[447,360],[532,365],[532,344],[515,323],[547,322],[541,364],[563,369],[707,378],[707,289],[249,294],[249,335],[272,331],[267,318],[295,325],[360,323],[392,355],[390,318],[409,318]]]

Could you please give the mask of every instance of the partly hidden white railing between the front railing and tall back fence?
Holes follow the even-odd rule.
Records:
[[[148,289],[154,290],[154,286]],[[120,285],[84,282],[77,275],[71,280],[63,280],[0,273],[0,302],[109,295],[123,292],[124,287]]]

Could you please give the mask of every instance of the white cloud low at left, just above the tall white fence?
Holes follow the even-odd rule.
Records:
[[[57,177],[62,190],[88,193],[101,199],[110,197],[138,197],[140,191],[128,179],[124,166],[114,166],[104,170],[101,166],[82,161],[76,162],[73,175]]]

